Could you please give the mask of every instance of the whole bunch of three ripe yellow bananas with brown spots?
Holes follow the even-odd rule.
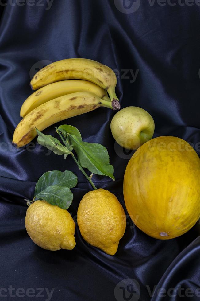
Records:
[[[13,145],[25,146],[37,135],[36,128],[42,131],[98,107],[119,109],[116,83],[115,73],[109,67],[88,59],[66,59],[44,67],[31,80],[31,88],[39,90],[21,107],[24,119],[14,131]]]

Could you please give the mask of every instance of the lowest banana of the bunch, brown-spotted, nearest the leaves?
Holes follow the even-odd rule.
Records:
[[[77,116],[98,107],[117,109],[116,100],[106,101],[91,92],[76,92],[60,96],[41,104],[31,111],[17,125],[13,135],[13,145],[23,147],[40,131],[61,120]]]

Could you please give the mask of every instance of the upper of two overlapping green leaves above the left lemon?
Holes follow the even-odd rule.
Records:
[[[69,170],[65,170],[64,172],[59,170],[47,171],[37,181],[35,196],[52,185],[73,188],[77,185],[77,176]]]

